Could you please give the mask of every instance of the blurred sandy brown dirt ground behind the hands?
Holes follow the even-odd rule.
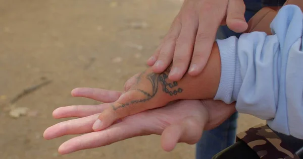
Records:
[[[147,68],[178,13],[179,0],[0,0],[0,158],[194,158],[194,145],[161,149],[160,136],[127,139],[109,146],[59,155],[73,136],[45,140],[42,133],[59,121],[58,107],[97,104],[73,98],[76,87],[122,90],[124,82]],[[52,80],[18,100],[24,89]],[[11,110],[29,109],[15,117]],[[19,112],[22,113],[22,112]],[[241,115],[238,131],[262,120]]]

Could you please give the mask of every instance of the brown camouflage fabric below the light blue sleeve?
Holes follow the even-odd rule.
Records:
[[[300,159],[294,151],[283,144],[268,126],[259,124],[237,134],[236,141],[244,141],[261,159]]]

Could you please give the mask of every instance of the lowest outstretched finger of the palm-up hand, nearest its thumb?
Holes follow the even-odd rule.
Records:
[[[59,147],[59,153],[67,154],[82,149],[105,146],[117,141],[140,135],[141,128],[139,126],[121,122],[103,131],[91,132],[74,137],[64,142]]]

